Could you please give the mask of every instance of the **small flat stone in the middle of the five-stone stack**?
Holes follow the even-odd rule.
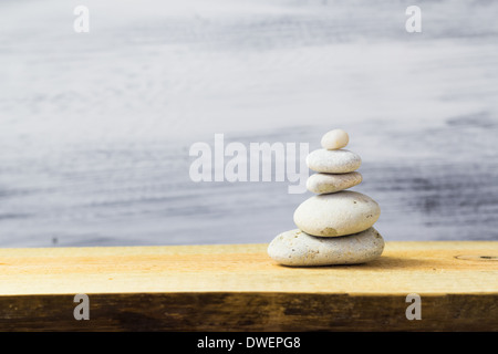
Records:
[[[363,177],[360,173],[341,175],[314,174],[308,178],[307,188],[312,192],[329,194],[354,187],[361,184],[362,180]]]

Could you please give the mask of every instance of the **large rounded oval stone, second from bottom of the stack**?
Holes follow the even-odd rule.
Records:
[[[342,190],[304,200],[294,211],[294,223],[309,235],[335,237],[366,230],[380,216],[381,207],[375,200]]]

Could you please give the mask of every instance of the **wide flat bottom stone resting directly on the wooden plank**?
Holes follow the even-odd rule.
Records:
[[[334,238],[295,229],[280,233],[268,246],[273,260],[294,267],[365,263],[381,257],[383,250],[384,239],[374,228]]]

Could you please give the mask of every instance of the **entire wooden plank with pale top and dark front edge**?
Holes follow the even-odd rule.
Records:
[[[498,330],[496,241],[387,242],[371,263],[320,268],[266,247],[0,249],[0,330]],[[76,293],[90,321],[73,317]]]

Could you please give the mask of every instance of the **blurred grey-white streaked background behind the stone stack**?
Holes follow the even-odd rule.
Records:
[[[90,9],[90,33],[73,10]],[[422,9],[422,33],[405,10]],[[188,149],[350,133],[390,240],[498,240],[498,1],[2,0],[0,247],[269,242],[310,192]]]

